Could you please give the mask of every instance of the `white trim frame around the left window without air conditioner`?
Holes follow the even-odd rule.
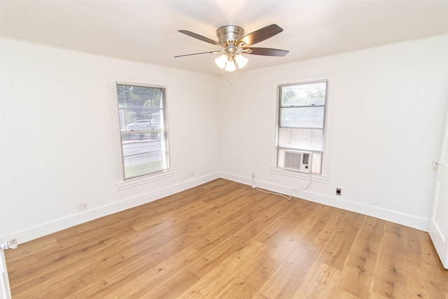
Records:
[[[144,176],[137,176],[131,179],[125,179],[123,173],[123,152],[122,152],[122,144],[121,144],[121,132],[120,132],[120,120],[118,118],[118,95],[117,95],[117,84],[129,84],[129,85],[144,85],[150,87],[164,88],[165,89],[165,111],[169,108],[169,104],[167,101],[167,93],[169,89],[169,83],[160,82],[148,78],[130,78],[125,76],[115,76],[109,75],[109,95],[110,95],[110,104],[111,104],[111,121],[112,124],[112,133],[113,133],[113,148],[114,148],[114,156],[115,156],[115,165],[116,165],[116,185],[118,190],[123,190],[125,188],[131,188],[134,186],[139,186],[144,183],[148,183],[151,181],[157,181],[159,179],[164,179],[168,176],[174,175],[174,169],[171,165],[170,159],[170,151],[169,151],[169,133],[167,133],[167,159],[168,169],[163,169],[158,172],[153,172],[151,174],[146,174]],[[169,123],[169,113],[165,112],[165,130],[169,132],[168,123]]]

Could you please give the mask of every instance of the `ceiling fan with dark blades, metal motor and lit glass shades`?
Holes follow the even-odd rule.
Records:
[[[221,53],[221,56],[216,58],[215,62],[218,67],[221,69],[225,69],[226,71],[235,71],[235,62],[238,65],[239,69],[242,69],[248,59],[241,54],[251,54],[251,55],[264,55],[264,56],[280,56],[283,57],[288,54],[287,50],[279,50],[272,48],[253,48],[251,47],[255,43],[260,43],[260,41],[265,41],[270,37],[279,34],[282,32],[278,25],[272,24],[266,27],[262,27],[261,29],[256,30],[250,34],[244,35],[244,29],[235,26],[235,25],[226,25],[223,27],[219,27],[216,30],[216,36],[218,36],[218,41],[214,41],[213,39],[209,39],[205,36],[195,34],[194,32],[190,32],[188,30],[179,30],[179,32],[191,36],[195,39],[199,39],[200,41],[205,41],[206,43],[211,43],[220,48],[216,51],[210,52],[202,52],[202,53],[193,53],[187,55],[178,55],[174,57],[183,57],[190,55],[199,55],[199,54],[217,54]]]

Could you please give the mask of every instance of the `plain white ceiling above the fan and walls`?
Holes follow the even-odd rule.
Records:
[[[209,43],[223,25],[246,34],[270,24],[283,32],[255,47],[285,57],[247,55],[245,69],[448,33],[448,0],[0,0],[0,34],[88,53],[225,74]]]

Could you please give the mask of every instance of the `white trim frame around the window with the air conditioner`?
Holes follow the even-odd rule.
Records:
[[[278,139],[279,139],[279,113],[280,113],[280,105],[279,105],[279,90],[281,86],[295,85],[301,83],[312,83],[319,81],[327,81],[327,94],[326,94],[326,108],[324,115],[324,124],[323,124],[323,155],[322,155],[322,169],[321,174],[305,174],[302,172],[295,172],[293,170],[284,169],[277,166],[278,159]],[[272,174],[281,174],[286,176],[293,176],[300,179],[310,179],[312,181],[318,181],[322,183],[328,182],[328,174],[330,171],[330,147],[331,147],[331,130],[332,130],[332,109],[334,104],[334,90],[335,90],[335,73],[325,73],[325,74],[316,74],[311,76],[302,76],[297,78],[286,78],[281,79],[279,81],[273,82],[273,90],[274,90],[274,138],[272,139],[274,145],[272,146],[272,158],[271,165],[269,167],[269,171]]]

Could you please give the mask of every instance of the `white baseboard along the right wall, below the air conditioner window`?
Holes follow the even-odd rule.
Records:
[[[235,176],[233,174],[221,173],[223,179],[230,181],[236,181],[238,183],[244,183],[248,186],[252,186],[252,179],[243,176]],[[286,186],[280,186],[273,183],[267,183],[265,181],[255,180],[255,186],[258,188],[274,191],[285,195],[290,195],[291,188]],[[417,230],[423,230],[428,232],[429,219],[419,218],[409,214],[401,213],[400,211],[393,211],[389,209],[383,209],[381,207],[374,207],[367,204],[360,204],[351,200],[344,200],[340,197],[329,196],[310,192],[309,190],[300,190],[293,193],[294,197],[300,197],[304,200],[311,202],[317,202],[319,204],[325,204],[330,207],[337,207],[347,211],[354,211],[359,214],[380,218],[393,223],[409,226],[410,228],[416,228]]]

